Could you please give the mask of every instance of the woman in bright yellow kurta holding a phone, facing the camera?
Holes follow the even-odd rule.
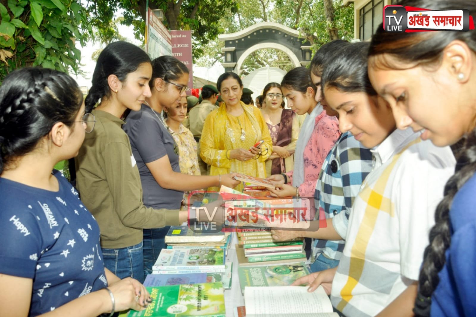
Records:
[[[217,88],[223,102],[205,119],[200,157],[210,164],[210,175],[237,172],[265,178],[265,161],[271,155],[273,145],[260,110],[240,101],[243,83],[237,74],[222,74],[217,80]],[[260,140],[263,144],[255,148]],[[243,185],[235,189],[242,190]]]

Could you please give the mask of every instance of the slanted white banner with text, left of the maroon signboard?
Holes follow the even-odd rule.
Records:
[[[154,15],[150,8],[146,20],[146,52],[150,59],[172,55],[172,37],[169,30]]]

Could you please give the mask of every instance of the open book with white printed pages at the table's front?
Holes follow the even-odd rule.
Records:
[[[322,286],[245,287],[247,317],[339,317]]]

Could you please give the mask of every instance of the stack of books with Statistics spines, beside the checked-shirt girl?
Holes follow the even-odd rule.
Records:
[[[237,232],[238,261],[242,256],[246,258],[246,263],[240,265],[267,261],[299,262],[306,258],[302,238],[273,242],[268,228],[238,228]]]

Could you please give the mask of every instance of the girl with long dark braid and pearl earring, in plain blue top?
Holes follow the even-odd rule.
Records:
[[[474,0],[406,1],[431,10],[469,10]],[[463,23],[463,22],[462,22]],[[418,279],[417,316],[476,316],[476,31],[379,32],[369,76],[393,109],[399,129],[424,130],[437,146],[465,138],[455,174],[436,208],[436,224]]]

